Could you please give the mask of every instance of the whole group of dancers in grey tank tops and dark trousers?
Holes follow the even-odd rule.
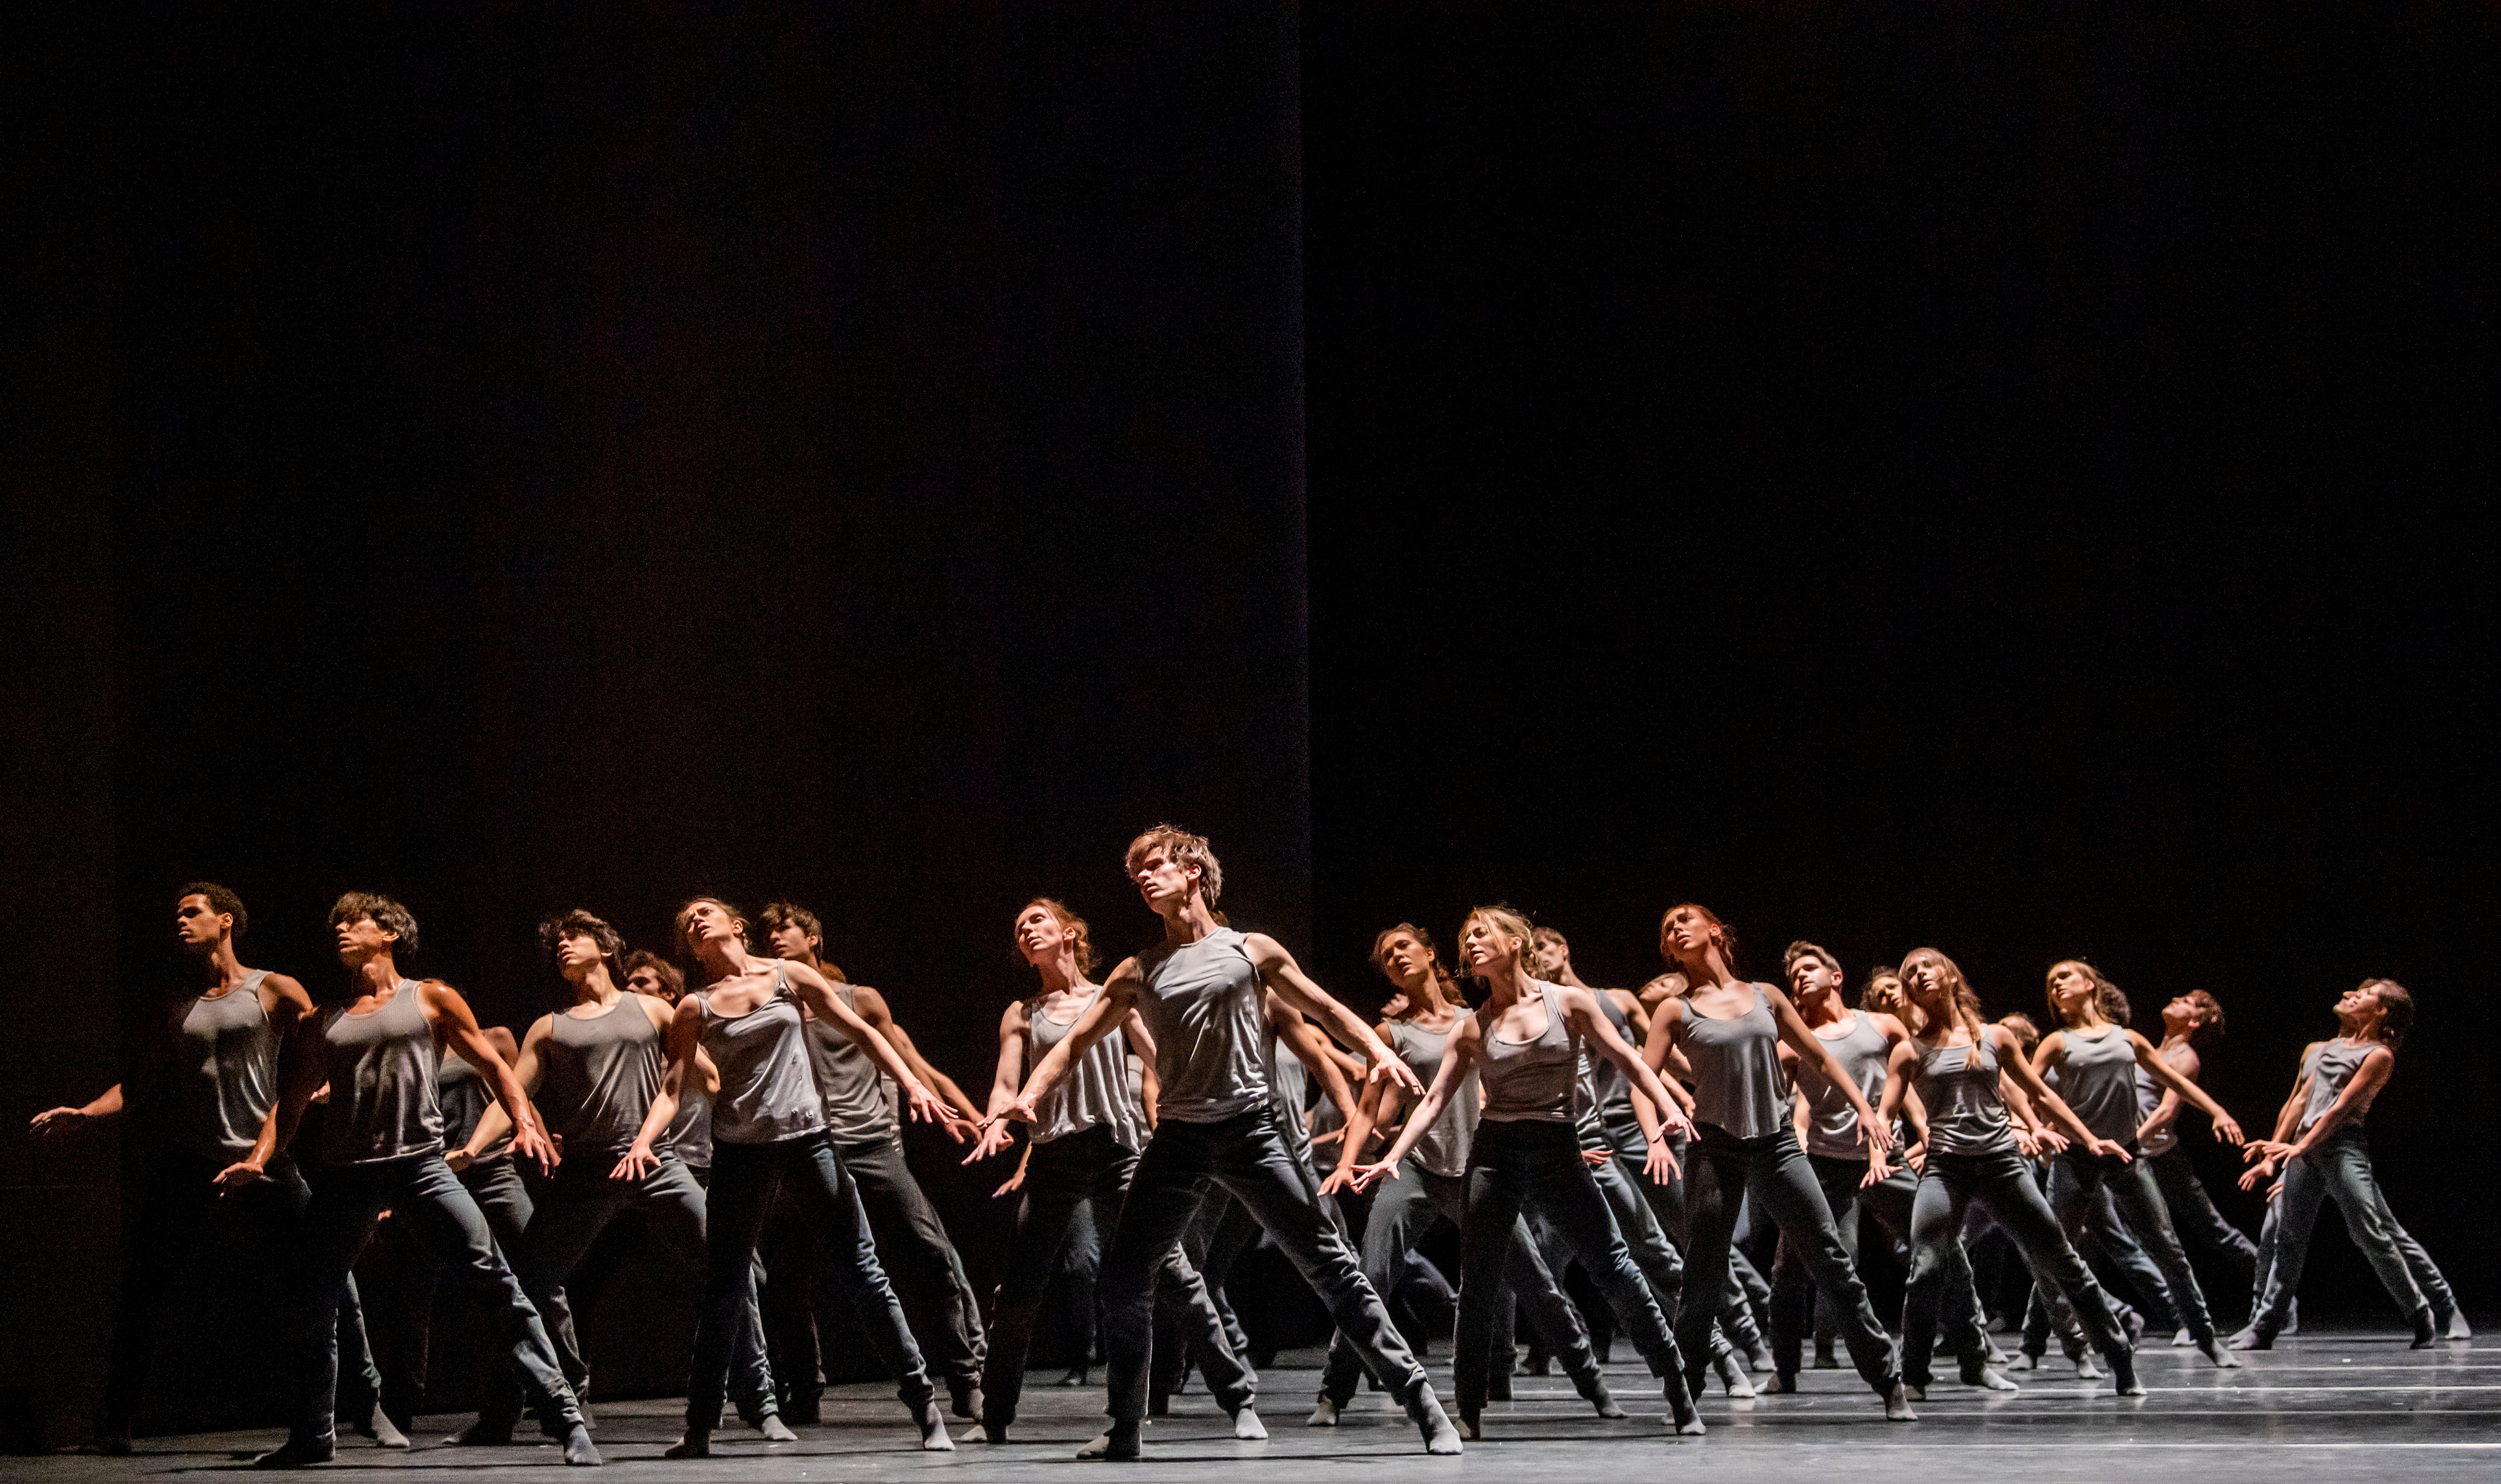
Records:
[[[2271,1136],[2243,1141],[2198,1086],[2221,1006],[2171,1001],[2156,1044],[2076,958],[2048,971],[2053,1029],[2038,1034],[2021,1014],[1983,1019],[1936,948],[1866,976],[1853,1006],[1826,948],[1793,943],[1786,986],[1748,981],[1728,923],[1681,903],[1661,923],[1666,973],[1641,991],[1593,988],[1561,933],[1483,906],[1461,923],[1453,966],[1428,931],[1383,931],[1373,963],[1393,999],[1366,1024],[1276,938],[1225,923],[1205,838],[1155,826],[1125,868],[1163,938],[1100,981],[1075,913],[1053,898],[1015,913],[1038,986],[1000,1019],[980,1104],[920,1056],[883,996],[820,958],[818,921],[788,903],[758,918],[768,953],[730,903],[688,901],[673,948],[693,991],[588,911],[545,923],[570,1004],[515,1044],[480,1029],[448,983],[405,973],[418,923],[388,896],[338,901],[348,983],[315,999],[240,963],[248,916],[228,888],[185,886],[175,921],[200,983],[168,1019],[153,1079],[158,1156],[138,1191],[145,1241],[125,1259],[100,1446],[130,1446],[168,1259],[225,1201],[270,1206],[283,1231],[290,1431],[265,1466],[330,1459],[343,1416],[408,1446],[413,1396],[400,1416],[385,1406],[353,1279],[385,1209],[423,1246],[413,1261],[460,1276],[505,1356],[455,1441],[508,1441],[528,1411],[568,1464],[600,1451],[565,1289],[628,1209],[700,1274],[673,1459],[710,1456],[730,1404],[765,1439],[815,1421],[818,1284],[893,1374],[920,1446],[955,1446],[948,1411],[975,1424],[968,1441],[1010,1441],[1035,1319],[1088,1216],[1108,1229],[1095,1296],[1110,1421],[1085,1459],[1135,1459],[1183,1366],[1235,1436],[1266,1436],[1220,1286],[1258,1234],[1336,1326],[1311,1426],[1338,1426],[1368,1376],[1431,1454],[1483,1436],[1486,1404],[1511,1394],[1521,1321],[1613,1419],[1626,1411],[1598,1356],[1603,1334],[1628,1336],[1671,1436],[1706,1431],[1696,1399],[1713,1379],[1736,1396],[1756,1394],[1748,1371],[1768,1374],[1766,1391],[1796,1391],[1811,1336],[1818,1354],[1838,1339],[1898,1421],[1936,1386],[1938,1346],[1963,1386],[2011,1391],[2006,1371],[2046,1364],[2053,1334],[2078,1374],[2101,1374],[2098,1351],[2116,1391],[2136,1396],[2146,1314],[2116,1301],[2081,1251],[2133,1254],[2123,1271],[2143,1306],[2236,1366],[2236,1349],[2268,1349],[2293,1324],[2328,1199],[2416,1344],[2466,1336],[2448,1284],[2371,1176],[2363,1114],[2413,1021],[2393,981],[2336,1001],[2336,1039],[2303,1054]],[[1306,1086],[1326,1089],[1318,1109],[1306,1111]],[[2213,1211],[2173,1141],[2188,1106],[2246,1146],[2241,1184],[2268,1191],[2256,1244]],[[120,1111],[115,1086],[40,1114],[35,1131]],[[318,1131],[298,1139],[308,1114]],[[903,1161],[900,1119],[943,1126],[970,1146],[968,1164],[1023,1136],[988,1326]],[[1456,1421],[1386,1301],[1446,1289],[1418,1251],[1436,1219],[1461,1239]],[[1738,1241],[1748,1221],[1776,1231],[1768,1281]],[[1898,1341],[1858,1276],[1868,1221],[1908,1259]],[[785,1236],[768,1244],[775,1226]],[[1973,1276],[1991,1229],[2033,1279],[2018,1356],[1988,1339]],[[2233,1336],[2183,1229],[2251,1286]],[[1573,1264],[1596,1294],[1586,1311],[1566,1291]]]

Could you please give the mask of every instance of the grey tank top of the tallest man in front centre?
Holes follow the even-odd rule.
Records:
[[[1215,928],[1195,943],[1138,956],[1138,1014],[1155,1039],[1158,1116],[1220,1124],[1268,1101],[1268,1016],[1243,936]]]

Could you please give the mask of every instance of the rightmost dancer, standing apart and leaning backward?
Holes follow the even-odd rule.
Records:
[[[2258,1236],[2258,1271],[2266,1281],[2236,1349],[2273,1349],[2291,1319],[2293,1294],[2311,1251],[2318,1204],[2336,1201],[2353,1246],[2371,1261],[2398,1314],[2413,1324],[2413,1349],[2431,1349],[2456,1321],[2458,1301],[2441,1269],[2423,1256],[2408,1261],[2388,1196],[2371,1169],[2363,1114],[2396,1074],[2396,1051],[2413,1031],[2413,996],[2393,978],[2366,978],[2336,999],[2336,1039],[2313,1041],[2301,1054],[2301,1076],[2276,1116],[2276,1136],[2253,1141],[2256,1164],[2241,1189],[2258,1189],[2278,1171],[2283,1189],[2266,1211]],[[2431,1291],[2426,1294],[2423,1279]]]

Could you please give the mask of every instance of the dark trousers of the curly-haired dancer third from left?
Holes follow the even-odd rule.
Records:
[[[555,1179],[538,1196],[538,1209],[520,1239],[513,1266],[520,1271],[520,1286],[538,1304],[540,1314],[548,1314],[550,1304],[560,1306],[565,1301],[565,1284],[590,1251],[590,1244],[625,1211],[640,1211],[650,1221],[660,1246],[678,1259],[680,1271],[703,1281],[705,1196],[693,1171],[678,1164],[675,1156],[663,1156],[638,1181],[610,1179],[610,1169],[615,1169],[610,1154],[583,1149],[573,1161],[558,1166]],[[588,1396],[590,1371],[583,1364],[573,1326],[550,1329],[548,1339],[555,1341],[555,1359],[563,1364],[573,1394]],[[743,1311],[738,1324],[730,1399],[738,1401],[738,1414],[748,1421],[763,1421],[775,1411],[773,1371],[765,1364],[765,1339],[753,1306]]]

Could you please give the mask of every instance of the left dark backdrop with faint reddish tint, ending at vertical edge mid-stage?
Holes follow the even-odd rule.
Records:
[[[110,45],[73,123],[120,145],[115,608],[63,618],[113,633],[73,693],[120,718],[125,1014],[195,876],[315,994],[333,896],[400,896],[415,968],[515,1031],[545,913],[658,946],[688,893],[790,896],[978,1094],[1018,906],[1143,943],[1120,851],[1165,816],[1308,941],[1291,13],[188,8]],[[30,1069],[13,1126],[98,1061]],[[910,1144],[988,1291],[1010,1164]],[[230,1416],[173,1349],[150,1421]]]

